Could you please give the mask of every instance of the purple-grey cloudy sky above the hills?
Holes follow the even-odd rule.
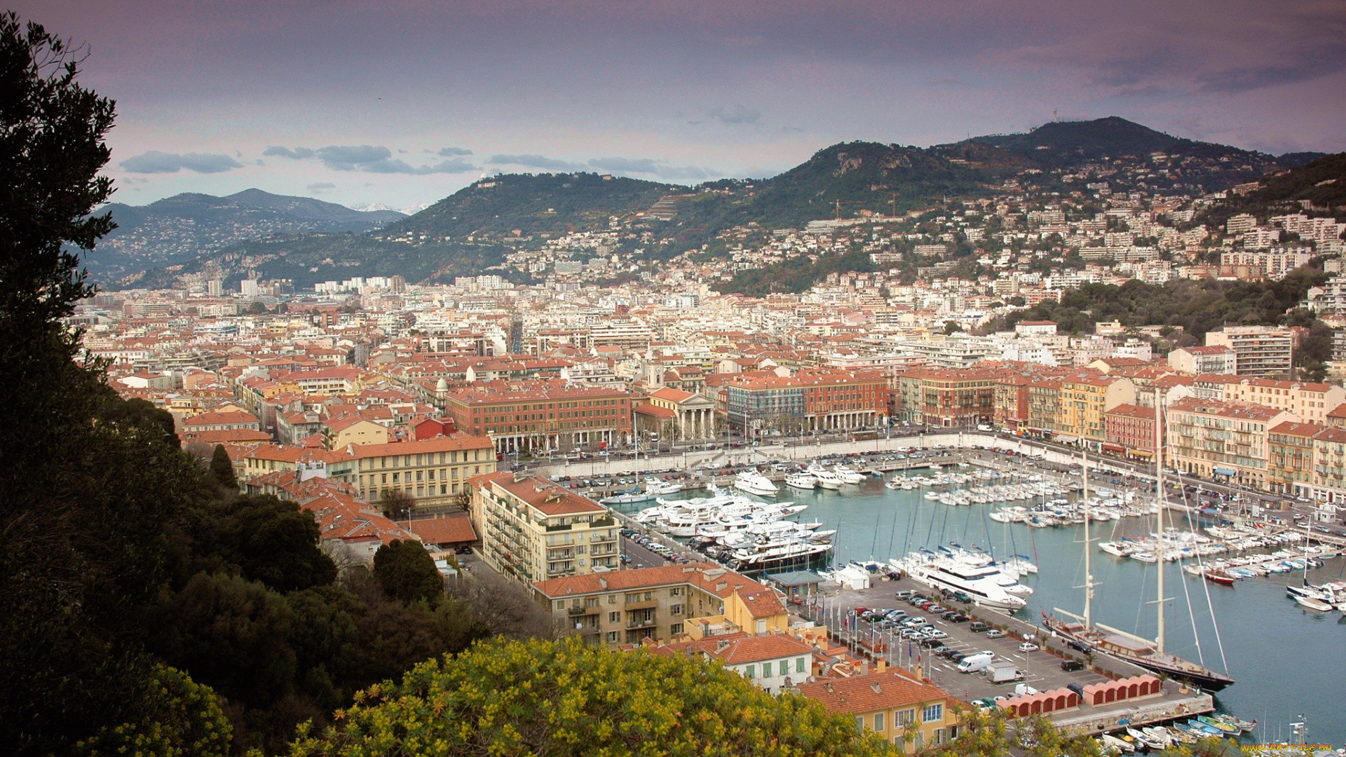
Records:
[[[1341,0],[16,0],[117,101],[118,202],[413,209],[487,172],[697,183],[1121,116],[1346,150]]]

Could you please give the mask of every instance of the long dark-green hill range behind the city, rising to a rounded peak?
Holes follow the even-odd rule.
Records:
[[[180,246],[166,253],[147,242],[141,248],[145,259],[157,255],[163,259],[160,267],[180,267],[174,275],[148,272],[135,280],[171,282],[182,273],[199,275],[210,265],[213,277],[236,279],[246,265],[258,276],[288,277],[302,287],[378,275],[369,272],[388,269],[388,260],[401,260],[406,269],[394,272],[409,282],[441,279],[474,272],[460,259],[497,259],[505,249],[536,249],[545,237],[607,230],[614,217],[625,232],[612,252],[642,251],[649,259],[666,259],[686,249],[715,251],[724,245],[719,238],[721,232],[754,224],[763,229],[800,228],[814,220],[907,213],[944,198],[984,198],[1004,191],[1065,195],[1094,182],[1106,182],[1113,194],[1202,195],[1279,174],[1314,158],[1316,154],[1277,158],[1108,117],[1051,123],[1027,133],[980,136],[927,148],[840,143],[771,178],[721,179],[696,187],[587,172],[506,174],[479,179],[415,216],[361,237],[330,233],[359,230],[354,228],[277,228],[269,233],[327,233],[252,241],[240,241],[245,234],[230,232],[221,234],[223,244],[194,242],[203,251],[195,256]],[[261,213],[284,213],[291,222],[303,224],[335,222],[318,221],[310,207],[339,207],[302,198],[240,195],[209,199],[227,203],[234,213],[246,203],[253,220],[261,218]],[[180,195],[162,202],[202,203],[203,197]],[[358,214],[350,209],[341,211]],[[267,233],[254,224],[250,236]],[[417,252],[408,253],[408,248]],[[331,255],[323,255],[324,249]],[[397,255],[388,260],[381,257],[393,252]]]

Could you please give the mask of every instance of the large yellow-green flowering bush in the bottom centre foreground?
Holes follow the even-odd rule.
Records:
[[[481,643],[357,695],[291,754],[887,754],[848,717],[701,660],[567,641]]]

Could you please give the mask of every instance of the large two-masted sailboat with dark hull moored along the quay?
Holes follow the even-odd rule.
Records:
[[[1159,539],[1155,543],[1155,562],[1159,566],[1156,571],[1159,577],[1159,601],[1155,603],[1159,612],[1159,634],[1151,641],[1148,638],[1141,638],[1133,633],[1127,633],[1112,626],[1106,626],[1098,622],[1093,622],[1090,617],[1090,602],[1093,599],[1093,577],[1089,574],[1089,459],[1088,453],[1085,454],[1084,465],[1084,502],[1085,502],[1085,614],[1077,616],[1074,613],[1067,613],[1059,607],[1053,607],[1053,610],[1061,616],[1074,618],[1074,621],[1063,621],[1059,617],[1049,616],[1042,613],[1042,622],[1044,626],[1054,630],[1057,634],[1063,636],[1071,641],[1088,645],[1090,649],[1116,657],[1119,660],[1127,660],[1140,665],[1148,671],[1156,673],[1167,675],[1176,680],[1187,682],[1198,688],[1206,691],[1219,691],[1226,686],[1234,683],[1234,679],[1228,675],[1218,673],[1203,665],[1198,665],[1190,660],[1184,660],[1171,652],[1164,651],[1164,539],[1163,539],[1163,524],[1164,524],[1164,465],[1163,465],[1163,442],[1160,438],[1160,430],[1163,419],[1162,397],[1156,396],[1155,401],[1155,493],[1159,497]]]

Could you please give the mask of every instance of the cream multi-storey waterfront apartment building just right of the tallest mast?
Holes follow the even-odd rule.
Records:
[[[1197,397],[1179,400],[1164,414],[1168,465],[1254,489],[1269,481],[1269,430],[1302,420],[1284,409]]]

